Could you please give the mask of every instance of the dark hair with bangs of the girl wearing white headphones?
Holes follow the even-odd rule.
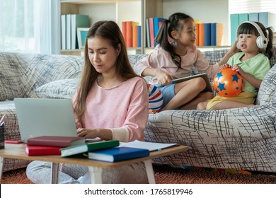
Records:
[[[263,34],[268,39],[268,45],[267,45],[266,49],[260,49],[260,52],[265,54],[265,56],[267,56],[270,59],[273,54],[273,46],[272,46],[273,30],[270,27],[265,28],[263,23],[260,23],[260,22],[255,22],[255,23],[257,25],[259,25],[260,29],[263,31]],[[260,36],[260,33],[255,28],[255,26],[252,25],[251,23],[246,23],[246,22],[241,23],[241,25],[238,26],[237,37],[240,34],[252,34],[252,35],[256,35],[257,37]]]

